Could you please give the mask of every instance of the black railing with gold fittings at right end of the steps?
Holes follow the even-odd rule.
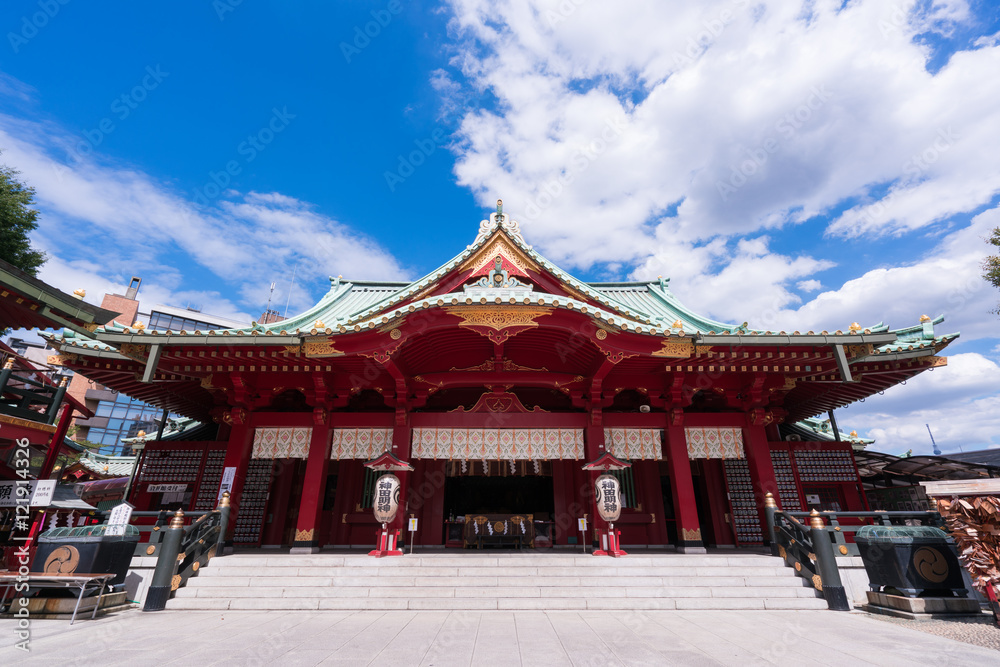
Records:
[[[823,594],[827,606],[836,611],[851,608],[837,556],[859,555],[857,545],[847,540],[847,534],[870,525],[944,525],[937,512],[783,512],[770,493],[764,504],[771,553],[812,583]]]

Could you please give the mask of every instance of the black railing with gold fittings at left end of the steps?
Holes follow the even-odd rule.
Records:
[[[219,507],[210,512],[186,515],[184,510],[177,510],[172,516],[168,512],[133,512],[132,516],[156,517],[149,542],[140,542],[136,555],[157,557],[142,610],[159,611],[175,590],[213,557],[222,555],[229,527],[229,492],[222,494]],[[184,525],[185,519],[192,516],[197,518]]]

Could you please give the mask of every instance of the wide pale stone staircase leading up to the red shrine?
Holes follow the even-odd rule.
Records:
[[[235,554],[167,609],[826,609],[779,558],[630,555]]]

